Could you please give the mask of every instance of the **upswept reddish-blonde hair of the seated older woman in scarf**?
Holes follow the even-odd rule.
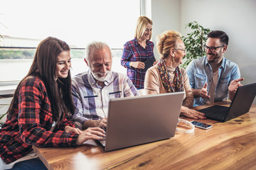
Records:
[[[179,39],[181,39],[181,33],[175,30],[166,30],[156,37],[156,48],[161,59],[168,57],[171,48],[176,48]]]

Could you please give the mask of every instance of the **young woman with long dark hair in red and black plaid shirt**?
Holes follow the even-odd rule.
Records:
[[[69,147],[105,137],[101,128],[81,131],[69,120],[75,110],[70,60],[70,47],[62,40],[49,37],[38,45],[0,130],[0,169],[46,169],[32,146]]]

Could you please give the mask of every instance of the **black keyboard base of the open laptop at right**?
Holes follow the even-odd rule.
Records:
[[[206,114],[206,118],[210,118],[213,120],[220,120],[220,121],[224,121],[225,120],[225,116],[228,113],[228,107],[225,106],[211,106],[209,108],[203,108],[201,110],[199,110],[201,113],[205,113]]]

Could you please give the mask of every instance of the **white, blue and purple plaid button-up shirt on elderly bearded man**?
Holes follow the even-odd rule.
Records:
[[[107,117],[110,98],[138,96],[132,81],[124,74],[110,72],[101,87],[92,77],[90,70],[72,79],[72,95],[75,104],[73,122],[78,128],[86,120],[99,120]]]

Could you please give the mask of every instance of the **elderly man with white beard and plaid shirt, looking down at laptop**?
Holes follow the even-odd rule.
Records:
[[[112,72],[112,52],[105,42],[91,42],[86,47],[85,62],[90,68],[72,79],[77,128],[107,127],[110,98],[138,96],[132,81],[124,74]]]

